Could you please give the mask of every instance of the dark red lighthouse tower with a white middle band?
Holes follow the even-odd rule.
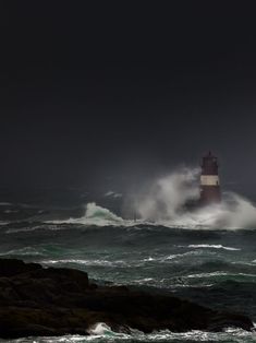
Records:
[[[200,203],[207,205],[221,200],[217,157],[209,152],[203,157],[200,175]]]

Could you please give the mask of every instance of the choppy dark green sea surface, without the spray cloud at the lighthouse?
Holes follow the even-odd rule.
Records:
[[[98,283],[174,293],[212,308],[245,314],[256,321],[256,226],[235,230],[167,227],[123,221],[94,204],[86,215],[77,204],[50,209],[45,203],[3,201],[0,210],[1,257],[81,269]],[[101,324],[89,338],[28,338],[15,342],[88,341],[256,342],[256,335],[232,329],[223,333],[121,335]]]

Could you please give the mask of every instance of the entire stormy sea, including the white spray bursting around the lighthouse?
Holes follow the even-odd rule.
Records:
[[[0,256],[88,272],[99,284],[174,294],[256,322],[256,208],[224,192],[219,205],[187,206],[198,170],[179,168],[132,194],[41,190],[0,199]],[[255,194],[256,196],[256,194]],[[40,199],[40,200],[38,200]],[[255,197],[256,199],[256,197]],[[118,334],[106,323],[89,336],[10,342],[255,342],[254,332]]]

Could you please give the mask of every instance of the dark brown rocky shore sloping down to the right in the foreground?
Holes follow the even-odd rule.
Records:
[[[243,315],[125,286],[97,286],[78,270],[0,259],[0,338],[88,334],[97,322],[127,333],[130,328],[145,333],[253,328]]]

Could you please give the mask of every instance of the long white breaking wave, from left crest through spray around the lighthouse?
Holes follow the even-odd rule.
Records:
[[[255,227],[255,205],[236,193],[223,192],[220,204],[204,208],[196,205],[199,198],[198,175],[198,169],[183,167],[137,190],[124,201],[125,220],[110,210],[90,202],[86,204],[83,216],[51,221],[51,223],[93,226],[148,224],[197,229]]]

